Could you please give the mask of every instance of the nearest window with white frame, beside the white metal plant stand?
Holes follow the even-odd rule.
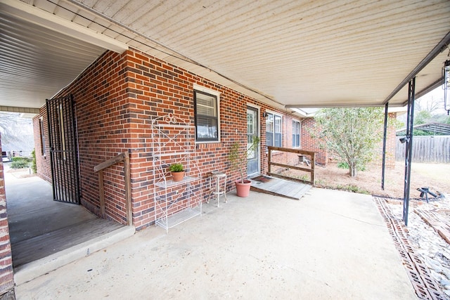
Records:
[[[195,141],[218,142],[219,96],[204,91],[194,91]]]

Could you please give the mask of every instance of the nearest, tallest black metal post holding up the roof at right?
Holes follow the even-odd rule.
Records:
[[[409,188],[411,187],[411,152],[413,146],[414,124],[414,96],[416,89],[416,77],[409,81],[408,85],[408,117],[406,119],[406,155],[405,155],[405,183],[403,197],[403,221],[408,226]]]

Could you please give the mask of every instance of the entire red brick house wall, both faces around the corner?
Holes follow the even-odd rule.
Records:
[[[283,145],[292,145],[292,115],[289,113],[139,51],[129,50],[122,55],[107,52],[58,95],[72,93],[75,97],[84,207],[100,214],[98,174],[94,173],[94,166],[128,151],[134,225],[141,229],[154,222],[151,120],[172,113],[194,125],[194,84],[221,94],[221,142],[198,144],[196,154],[203,174],[213,170],[226,171],[228,190],[234,188],[233,181],[238,178],[238,171],[229,169],[228,152],[234,141],[246,143],[248,104],[260,107],[262,145],[266,143],[262,117],[266,110],[283,115]],[[46,122],[44,109],[40,116]],[[34,119],[35,132],[38,120]],[[35,141],[36,148],[40,149],[40,138]],[[267,170],[264,147],[261,157],[264,174]],[[39,176],[49,176],[49,159],[37,155],[37,165]],[[104,176],[106,214],[109,219],[124,223],[123,164],[106,169]]]

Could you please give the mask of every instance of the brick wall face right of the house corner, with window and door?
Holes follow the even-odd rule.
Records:
[[[153,190],[149,183],[153,180],[150,149],[150,117],[161,117],[172,113],[176,117],[194,125],[193,119],[193,85],[217,91],[220,97],[221,142],[201,143],[197,145],[198,164],[203,174],[210,171],[225,171],[228,174],[228,190],[234,189],[233,181],[238,179],[238,171],[231,171],[228,153],[232,143],[239,141],[246,145],[246,114],[247,105],[259,107],[259,118],[270,109],[283,117],[287,115],[281,110],[257,102],[248,96],[221,86],[214,81],[198,77],[196,74],[183,70],[162,60],[151,58],[139,52],[129,53],[130,88],[136,93],[130,97],[130,103],[136,112],[133,139],[132,177],[134,222],[137,228],[148,226],[153,222]],[[264,122],[264,121],[263,121]],[[283,118],[283,124],[287,124]],[[260,126],[261,145],[265,145],[265,124]],[[292,135],[292,133],[291,133]],[[289,135],[283,136],[283,145],[288,145]],[[290,137],[292,138],[292,137]],[[292,141],[290,141],[292,143]],[[262,173],[267,171],[267,158],[262,147]]]

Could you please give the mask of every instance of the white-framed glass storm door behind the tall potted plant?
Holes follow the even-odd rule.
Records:
[[[258,134],[258,110],[255,107],[247,107],[247,148],[252,145],[252,138]],[[259,174],[259,147],[248,154],[247,157],[247,175],[250,177]]]

